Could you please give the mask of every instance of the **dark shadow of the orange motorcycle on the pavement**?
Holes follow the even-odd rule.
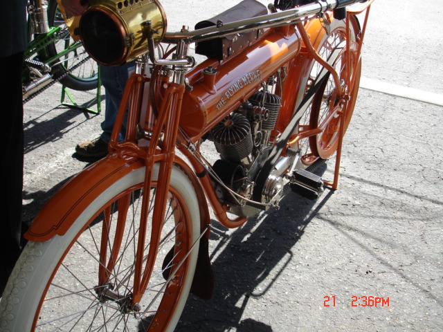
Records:
[[[248,302],[253,299],[260,302],[284,274],[292,258],[291,248],[332,194],[326,190],[315,202],[291,192],[282,200],[280,210],[259,214],[231,234],[213,221],[211,239],[217,240],[216,248],[210,249],[214,295],[206,302],[190,295],[176,331],[273,331],[265,323],[269,321],[265,313],[260,322],[244,317],[244,309],[251,307]],[[275,275],[272,279],[268,277],[271,271]]]

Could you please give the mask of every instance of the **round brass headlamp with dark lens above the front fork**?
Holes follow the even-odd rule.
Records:
[[[91,0],[89,4],[79,32],[84,48],[100,64],[129,62],[147,53],[149,33],[155,44],[165,35],[166,16],[157,0]]]

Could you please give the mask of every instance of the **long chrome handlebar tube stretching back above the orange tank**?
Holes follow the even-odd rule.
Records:
[[[163,42],[176,43],[183,39],[186,39],[189,43],[204,42],[210,39],[226,37],[236,33],[246,33],[261,28],[287,26],[288,24],[293,24],[305,17],[320,15],[327,10],[341,8],[357,2],[361,2],[361,0],[318,0],[316,3],[310,3],[298,8],[252,17],[251,19],[242,19],[240,21],[220,24],[219,26],[210,26],[199,30],[165,33]]]

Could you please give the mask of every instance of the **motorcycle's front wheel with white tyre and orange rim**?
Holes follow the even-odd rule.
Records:
[[[141,167],[123,176],[81,213],[67,207],[79,216],[62,237],[27,244],[3,294],[2,331],[174,330],[197,264],[197,196],[174,167],[154,270],[131,308],[144,174]],[[152,200],[155,191],[153,182]],[[148,238],[145,262],[149,246]]]

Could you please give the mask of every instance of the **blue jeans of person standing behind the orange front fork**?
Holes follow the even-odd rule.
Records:
[[[127,79],[134,71],[135,64],[134,62],[128,62],[121,66],[103,66],[102,64],[98,64],[98,66],[100,66],[100,79],[105,87],[105,120],[101,124],[103,132],[100,138],[105,142],[109,142],[114,122],[116,122],[118,107],[120,107],[120,100],[123,97],[123,90],[125,89]],[[127,113],[120,131],[119,140],[125,138],[126,122]]]

